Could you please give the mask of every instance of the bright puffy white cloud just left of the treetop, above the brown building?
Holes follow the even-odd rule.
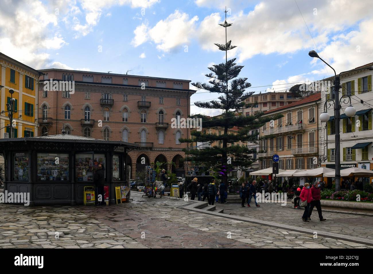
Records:
[[[146,41],[157,44],[157,49],[164,52],[175,50],[181,45],[189,43],[190,37],[195,34],[195,23],[198,16],[189,19],[187,13],[175,10],[166,19],[160,20],[150,28],[148,23],[142,23],[134,31],[135,37],[131,44],[137,47]]]

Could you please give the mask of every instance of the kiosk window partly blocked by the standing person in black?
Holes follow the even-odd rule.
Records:
[[[93,176],[102,164],[105,168],[105,155],[93,153],[79,153],[75,155],[75,180],[93,181]]]

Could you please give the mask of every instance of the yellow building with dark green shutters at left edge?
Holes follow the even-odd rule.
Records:
[[[4,138],[4,133],[10,133],[10,121],[8,117],[7,104],[11,97],[15,98],[13,121],[13,137],[37,136],[38,117],[38,81],[41,72],[35,70],[9,56],[0,53],[0,138]],[[9,89],[13,89],[11,96]],[[35,120],[36,119],[36,120]]]

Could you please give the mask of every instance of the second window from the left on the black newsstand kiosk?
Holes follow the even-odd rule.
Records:
[[[69,154],[38,153],[38,181],[69,180]]]

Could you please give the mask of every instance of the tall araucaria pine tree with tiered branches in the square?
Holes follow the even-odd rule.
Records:
[[[225,11],[226,13],[226,11]],[[192,83],[193,86],[198,89],[204,89],[211,93],[219,94],[219,100],[211,100],[209,102],[195,102],[195,105],[201,108],[219,109],[222,110],[222,114],[208,118],[207,116],[197,115],[202,117],[203,129],[208,128],[221,128],[221,135],[216,133],[209,133],[208,130],[193,131],[190,139],[180,139],[181,142],[202,142],[210,143],[219,142],[221,145],[214,145],[213,147],[204,148],[186,148],[183,151],[186,154],[186,161],[192,161],[194,163],[203,165],[207,169],[212,169],[217,176],[220,177],[222,182],[227,185],[228,176],[227,174],[234,169],[245,169],[251,166],[252,157],[250,154],[257,153],[247,147],[248,142],[257,143],[258,133],[251,133],[253,129],[258,129],[263,126],[264,123],[269,122],[272,119],[278,119],[282,116],[272,117],[261,117],[262,112],[258,112],[251,116],[237,115],[236,109],[242,109],[251,107],[255,103],[245,103],[245,99],[250,97],[254,92],[245,92],[245,89],[251,86],[247,82],[247,78],[238,77],[241,69],[244,66],[237,65],[235,58],[228,60],[227,52],[232,50],[236,46],[231,44],[231,41],[227,41],[227,28],[231,26],[231,23],[226,21],[219,24],[225,28],[225,44],[215,44],[219,50],[225,51],[226,61],[225,63],[213,65],[209,67],[211,72],[206,74],[209,80],[209,84],[196,82]],[[236,133],[228,132],[228,129],[237,127]],[[266,139],[270,136],[266,136]],[[241,145],[240,145],[241,142]]]

